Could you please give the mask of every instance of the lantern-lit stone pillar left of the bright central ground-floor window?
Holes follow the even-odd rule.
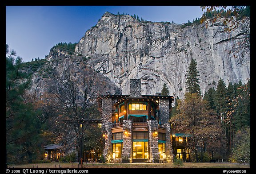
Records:
[[[132,120],[123,121],[122,159],[132,158]]]

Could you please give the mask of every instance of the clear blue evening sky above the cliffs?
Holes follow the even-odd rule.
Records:
[[[58,43],[77,43],[105,12],[152,22],[192,22],[200,6],[6,6],[6,43],[24,62],[44,58]]]

